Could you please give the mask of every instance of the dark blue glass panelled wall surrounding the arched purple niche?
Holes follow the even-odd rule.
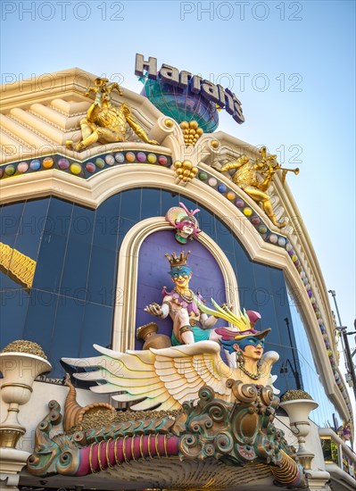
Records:
[[[180,200],[188,209],[201,209],[201,229],[221,247],[236,272],[240,304],[261,312],[259,329],[272,328],[266,350],[280,354],[273,370],[277,387],[282,393],[297,387],[293,373],[279,376],[286,360],[293,360],[300,373],[283,271],[250,260],[237,238],[243,221],[227,227],[186,196],[160,189],[130,189],[96,210],[55,197],[4,205],[2,241],[36,260],[37,269],[30,292],[0,275],[1,346],[19,338],[36,341],[54,366],[51,376],[61,378],[62,356],[91,356],[94,343],[111,345],[121,242],[138,221],[164,216]],[[285,318],[290,320],[289,333]]]

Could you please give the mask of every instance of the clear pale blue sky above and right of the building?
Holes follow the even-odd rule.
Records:
[[[3,83],[78,66],[139,92],[141,53],[231,88],[246,121],[220,112],[219,129],[301,169],[288,184],[354,330],[353,1],[3,0],[1,8]]]

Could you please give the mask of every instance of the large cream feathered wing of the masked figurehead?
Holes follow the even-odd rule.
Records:
[[[185,401],[196,400],[199,389],[205,385],[219,398],[232,400],[226,381],[236,379],[236,369],[222,361],[220,346],[214,341],[127,353],[94,347],[101,356],[62,360],[72,366],[98,369],[76,373],[74,377],[98,382],[100,385],[90,387],[93,392],[119,392],[112,398],[120,402],[137,401],[130,409],[152,409],[158,404],[160,410],[179,409]]]

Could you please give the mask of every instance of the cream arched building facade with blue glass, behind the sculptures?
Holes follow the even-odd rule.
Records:
[[[272,329],[265,351],[279,354],[272,371],[279,394],[304,390],[319,404],[310,414],[307,440],[314,455],[310,488],[327,489],[331,479],[333,489],[352,489],[354,454],[333,432],[342,421],[352,424],[338,369],[335,320],[286,171],[276,171],[266,188],[272,216],[236,183],[234,168],[221,171],[243,156],[266,162],[261,149],[222,131],[204,132],[208,116],[202,111],[189,126],[189,121],[183,124],[162,113],[147,94],[125,88],[120,94],[112,88],[108,96],[97,80],[73,69],[2,88],[1,344],[36,342],[52,366],[39,375],[34,394],[21,408],[26,433],[18,448],[33,451],[34,431],[50,399],[64,404],[68,389],[62,380],[70,365],[61,362],[63,357],[95,356],[94,344],[115,352],[142,349],[137,328],[153,320],[145,308],[161,304],[161,287],[170,287],[164,254],[190,250],[191,285],[208,304],[212,297],[218,304],[234,305],[234,312],[260,312],[258,329]],[[90,86],[96,87],[92,99],[86,95]],[[109,109],[120,108],[106,117],[121,124],[122,141],[108,141],[105,131],[111,122],[103,115],[102,125],[95,120],[86,133],[98,94],[103,107],[106,97]],[[180,203],[188,211],[199,209],[195,217],[201,231],[186,244],[177,243],[167,220],[167,212]],[[170,336],[170,317],[157,324],[161,334]],[[113,404],[110,395],[93,395],[85,380],[77,383],[82,405]],[[285,412],[278,418],[288,424]],[[297,443],[293,432],[286,431],[286,437]],[[334,442],[337,457],[334,452],[325,463],[320,442]],[[89,476],[80,483],[57,475],[43,484],[26,468],[11,472],[10,467],[4,464],[7,486],[12,475],[20,478],[20,487],[117,488],[110,475],[103,480]],[[124,470],[116,483],[125,489],[153,487],[154,479],[143,469],[133,471],[132,481]],[[273,487],[267,475],[249,479],[243,479],[242,487]],[[253,487],[248,487],[250,481]],[[194,488],[183,480],[174,482],[154,486]],[[231,483],[214,486],[235,488]]]

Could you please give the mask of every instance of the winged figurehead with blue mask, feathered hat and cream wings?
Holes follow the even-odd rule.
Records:
[[[195,301],[206,313],[227,320],[233,329],[216,329],[220,343],[231,354],[236,354],[236,368],[229,367],[220,356],[216,341],[199,341],[191,345],[169,348],[128,351],[120,353],[95,345],[99,356],[93,358],[64,358],[79,367],[97,369],[76,373],[77,379],[93,380],[99,385],[91,390],[100,394],[114,394],[112,399],[135,402],[131,410],[176,410],[186,401],[196,402],[203,386],[211,387],[216,395],[228,402],[235,401],[235,381],[258,386],[272,386],[276,376],[271,367],[279,356],[276,352],[263,354],[264,338],[270,329],[257,331],[246,312],[237,317],[228,308],[214,304],[216,311]],[[231,383],[233,382],[233,383]]]

